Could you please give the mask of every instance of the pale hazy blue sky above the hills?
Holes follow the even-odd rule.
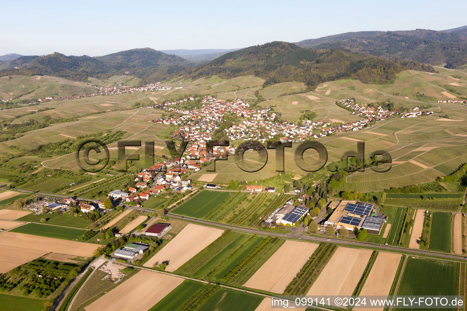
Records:
[[[467,24],[467,1],[2,1],[0,55],[243,48],[349,31]]]

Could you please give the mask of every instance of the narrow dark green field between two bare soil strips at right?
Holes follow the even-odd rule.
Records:
[[[451,214],[433,212],[430,246],[428,249],[449,253],[451,251]]]

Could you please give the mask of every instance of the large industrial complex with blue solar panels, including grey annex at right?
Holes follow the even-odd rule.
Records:
[[[336,203],[333,205],[336,205]],[[325,225],[333,225],[337,229],[347,228],[347,230],[354,230],[355,227],[364,228],[363,225],[368,219],[366,223],[368,233],[379,234],[384,219],[382,217],[374,217],[375,215],[376,208],[371,203],[342,200],[335,206],[333,214],[325,221]],[[381,220],[378,218],[381,218]],[[371,229],[371,232],[368,228]]]

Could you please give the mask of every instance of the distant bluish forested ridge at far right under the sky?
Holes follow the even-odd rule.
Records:
[[[457,68],[467,63],[467,28],[443,31],[363,31],[297,42],[302,48],[348,48],[389,60],[410,59]]]

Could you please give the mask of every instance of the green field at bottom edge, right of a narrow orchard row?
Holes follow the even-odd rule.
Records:
[[[202,304],[198,311],[255,311],[264,299],[263,296],[221,288]]]

